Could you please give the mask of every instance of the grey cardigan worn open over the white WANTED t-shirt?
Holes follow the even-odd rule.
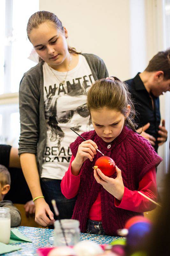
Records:
[[[94,54],[82,53],[92,71],[94,80],[108,76],[102,59]],[[47,127],[44,112],[43,61],[28,70],[22,77],[19,86],[19,112],[21,133],[19,155],[35,154],[41,175],[42,157],[47,138]]]

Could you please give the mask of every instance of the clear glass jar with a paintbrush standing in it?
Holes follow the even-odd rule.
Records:
[[[61,220],[62,228],[68,245],[75,245],[80,241],[80,229],[78,220]],[[54,222],[54,246],[66,245],[65,238],[59,220]]]

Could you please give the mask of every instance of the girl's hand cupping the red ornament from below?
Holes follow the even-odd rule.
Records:
[[[117,166],[116,174],[117,177],[113,179],[104,175],[99,168],[94,169],[94,178],[97,183],[101,184],[111,195],[121,201],[124,194],[124,185],[121,170]]]

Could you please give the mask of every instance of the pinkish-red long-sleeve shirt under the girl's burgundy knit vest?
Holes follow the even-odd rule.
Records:
[[[68,171],[65,173],[61,181],[61,191],[67,199],[75,197],[78,194],[80,186],[81,170],[78,176],[71,173],[71,163],[73,160],[74,156],[71,157]],[[146,212],[148,205],[152,203],[145,197],[141,196],[137,191],[141,191],[154,201],[157,200],[156,172],[154,167],[150,169],[139,182],[138,190],[132,191],[125,187],[122,200],[119,201],[114,198],[115,206],[133,212]],[[100,192],[98,193],[96,201],[90,208],[88,218],[91,220],[101,221]]]

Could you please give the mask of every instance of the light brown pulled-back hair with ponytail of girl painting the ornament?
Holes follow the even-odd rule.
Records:
[[[126,117],[128,113],[127,106],[130,105],[130,113],[125,120],[125,125],[136,132],[135,108],[127,84],[115,76],[112,77],[114,80],[103,78],[92,84],[87,95],[87,108],[89,111],[104,107],[116,109]]]

